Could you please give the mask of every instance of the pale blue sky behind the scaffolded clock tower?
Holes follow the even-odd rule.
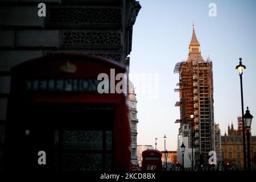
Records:
[[[256,1],[170,1],[141,0],[133,28],[133,50],[130,73],[158,73],[159,97],[149,100],[138,93],[138,144],[152,144],[158,138],[158,149],[176,150],[179,124],[179,94],[174,92],[179,81],[175,64],[187,60],[188,45],[195,20],[201,55],[213,61],[214,121],[221,134],[241,115],[240,80],[235,69],[239,57],[247,69],[243,74],[245,108],[255,116],[252,124],[256,134]],[[216,3],[217,17],[210,17],[209,3]],[[140,85],[135,85],[137,89]],[[136,90],[135,90],[136,92]]]

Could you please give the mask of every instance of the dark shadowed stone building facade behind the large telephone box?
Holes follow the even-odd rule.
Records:
[[[39,3],[46,16],[39,16]],[[0,1],[0,168],[2,166],[10,68],[45,55],[75,53],[129,66],[135,0]]]

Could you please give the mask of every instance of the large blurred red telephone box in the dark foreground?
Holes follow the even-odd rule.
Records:
[[[125,93],[97,92],[97,76],[126,68],[85,55],[52,55],[11,68],[5,168],[129,170]],[[114,76],[115,76],[114,75]],[[39,164],[39,151],[46,164]]]

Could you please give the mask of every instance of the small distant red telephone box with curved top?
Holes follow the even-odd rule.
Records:
[[[162,152],[148,149],[142,152],[142,171],[161,171]]]

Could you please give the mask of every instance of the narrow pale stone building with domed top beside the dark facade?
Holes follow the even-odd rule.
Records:
[[[129,116],[131,124],[131,164],[137,165],[137,99],[134,92],[134,85],[129,81],[128,94]]]

